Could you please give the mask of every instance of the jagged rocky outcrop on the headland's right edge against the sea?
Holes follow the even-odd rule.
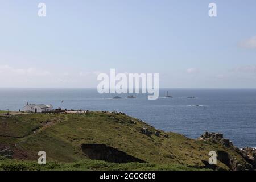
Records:
[[[213,143],[221,143],[225,147],[233,146],[232,142],[229,139],[223,138],[222,133],[214,133],[214,132],[205,132],[203,135],[199,137],[199,140],[210,140]]]

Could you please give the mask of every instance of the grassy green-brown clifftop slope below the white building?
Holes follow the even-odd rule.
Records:
[[[13,159],[0,160],[0,169],[7,164],[36,165],[38,151],[46,151],[47,162],[51,162],[48,165],[59,162],[56,169],[68,169],[81,162],[86,166],[94,161],[89,159],[112,166],[109,169],[150,169],[150,165],[152,169],[230,169],[223,159],[217,161],[217,166],[209,166],[209,151],[225,152],[237,163],[247,164],[234,147],[166,133],[125,114],[101,111],[2,116],[0,151],[3,150],[9,151]],[[30,162],[20,162],[21,159]],[[117,164],[129,162],[134,163]]]

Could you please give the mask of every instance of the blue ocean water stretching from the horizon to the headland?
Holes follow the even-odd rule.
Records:
[[[165,98],[169,90],[174,98]],[[160,89],[146,94],[98,94],[97,89],[0,89],[0,110],[22,109],[26,102],[54,108],[122,111],[164,131],[197,138],[204,131],[224,133],[238,147],[256,147],[256,89]],[[195,98],[187,98],[195,96]],[[61,102],[64,101],[64,102]]]

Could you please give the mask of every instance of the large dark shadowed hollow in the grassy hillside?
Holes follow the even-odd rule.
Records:
[[[105,160],[113,163],[145,162],[142,159],[135,158],[117,148],[106,146],[105,144],[82,144],[81,148],[90,159]]]

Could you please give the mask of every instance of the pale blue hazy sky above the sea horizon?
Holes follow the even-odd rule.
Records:
[[[96,87],[115,68],[162,88],[256,88],[255,19],[254,0],[1,0],[1,86]]]

